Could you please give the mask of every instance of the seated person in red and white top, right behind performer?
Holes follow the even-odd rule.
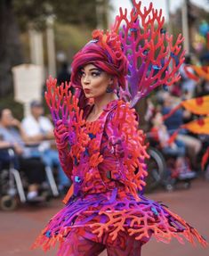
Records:
[[[179,179],[195,178],[196,173],[189,167],[186,160],[186,148],[183,142],[175,139],[170,140],[170,135],[164,124],[163,115],[160,111],[155,111],[152,118],[151,135],[152,139],[157,143],[159,149],[165,156],[173,157],[172,177]]]

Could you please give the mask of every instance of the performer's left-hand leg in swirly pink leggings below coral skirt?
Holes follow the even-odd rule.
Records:
[[[60,245],[58,256],[98,256],[105,250],[104,244],[92,242],[75,231],[71,231],[66,241]]]

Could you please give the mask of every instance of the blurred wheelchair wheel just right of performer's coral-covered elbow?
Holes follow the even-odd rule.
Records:
[[[146,178],[147,186],[145,192],[151,192],[157,186],[162,184],[165,175],[165,158],[157,149],[149,147],[149,160],[146,162],[148,165],[148,177]]]

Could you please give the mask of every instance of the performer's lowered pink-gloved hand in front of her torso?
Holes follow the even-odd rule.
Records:
[[[123,158],[125,156],[125,148],[123,146],[124,137],[110,136],[109,137],[109,149],[111,153],[114,153],[117,157]]]

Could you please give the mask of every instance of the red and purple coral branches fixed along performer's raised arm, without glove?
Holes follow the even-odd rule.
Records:
[[[57,80],[50,77],[46,82],[45,100],[52,113],[56,127],[59,120],[68,128],[68,145],[70,156],[79,161],[80,153],[84,152],[89,136],[84,131],[83,110],[78,107],[78,99],[70,92],[71,84],[62,83],[57,86]],[[56,134],[55,134],[56,136]]]

